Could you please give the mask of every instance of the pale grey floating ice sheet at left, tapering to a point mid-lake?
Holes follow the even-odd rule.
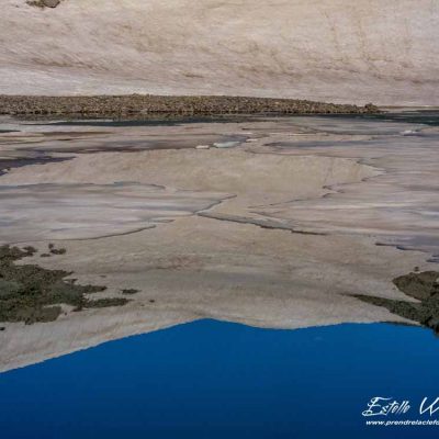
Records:
[[[131,182],[0,187],[0,243],[128,234],[210,209],[227,196]]]

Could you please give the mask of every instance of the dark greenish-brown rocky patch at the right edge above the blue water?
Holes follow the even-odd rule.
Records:
[[[438,279],[438,271],[424,271],[420,273],[412,272],[393,280],[401,292],[418,300],[418,302],[395,301],[363,294],[354,295],[354,297],[376,306],[383,306],[393,314],[418,322],[439,334]]]

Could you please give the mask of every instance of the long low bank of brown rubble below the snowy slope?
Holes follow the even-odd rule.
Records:
[[[0,95],[0,114],[130,116],[148,114],[367,114],[379,113],[364,106],[295,99],[246,97],[171,97],[150,94],[94,97]]]

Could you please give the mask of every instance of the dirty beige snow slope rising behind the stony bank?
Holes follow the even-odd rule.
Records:
[[[0,93],[439,104],[438,0],[2,0]]]

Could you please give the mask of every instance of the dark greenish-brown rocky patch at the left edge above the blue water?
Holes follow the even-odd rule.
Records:
[[[101,285],[79,285],[66,280],[71,272],[48,270],[36,264],[18,266],[14,262],[32,256],[32,247],[0,247],[0,322],[53,322],[63,313],[60,305],[86,308],[122,306],[124,297],[91,300],[89,294],[104,291]]]

